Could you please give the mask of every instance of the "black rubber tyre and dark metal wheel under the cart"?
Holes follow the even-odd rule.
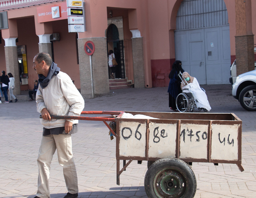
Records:
[[[149,167],[144,186],[149,198],[192,198],[196,191],[196,178],[184,161],[163,158]]]

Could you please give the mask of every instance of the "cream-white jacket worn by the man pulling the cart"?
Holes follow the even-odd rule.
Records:
[[[39,85],[36,94],[37,111],[41,113],[46,108],[50,115],[80,116],[85,101],[82,95],[73,84],[71,78],[63,72],[52,77],[46,88]],[[65,124],[63,119],[40,119],[46,129],[62,127]],[[68,120],[77,124],[78,120]]]

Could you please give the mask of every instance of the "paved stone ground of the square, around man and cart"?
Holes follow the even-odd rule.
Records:
[[[197,180],[195,197],[256,197],[256,112],[246,111],[231,95],[231,85],[204,85],[211,113],[235,113],[243,120],[242,165],[193,163]],[[20,97],[17,96],[19,99]],[[2,98],[3,99],[3,98]],[[85,99],[85,110],[134,110],[172,112],[167,88],[112,90],[95,99]],[[0,104],[0,197],[34,197],[37,191],[37,155],[42,125],[35,101]],[[101,121],[80,121],[80,133],[72,135],[78,174],[78,197],[147,197],[144,176],[147,163],[127,167],[116,185],[116,140],[110,140]],[[51,197],[67,193],[57,154],[53,157]]]

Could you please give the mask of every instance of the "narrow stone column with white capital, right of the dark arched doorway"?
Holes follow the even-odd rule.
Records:
[[[131,30],[131,33],[134,87],[145,88],[143,38],[140,36],[140,31],[137,29]]]

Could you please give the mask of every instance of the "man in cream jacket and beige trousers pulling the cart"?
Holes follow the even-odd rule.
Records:
[[[53,154],[57,149],[58,163],[68,190],[64,198],[78,197],[75,161],[72,153],[71,134],[77,133],[78,120],[51,119],[51,115],[80,116],[85,101],[71,78],[63,72],[47,53],[38,53],[33,59],[38,74],[36,94],[37,111],[41,113],[43,136],[38,153],[38,190],[35,198],[50,197],[49,178]]]

